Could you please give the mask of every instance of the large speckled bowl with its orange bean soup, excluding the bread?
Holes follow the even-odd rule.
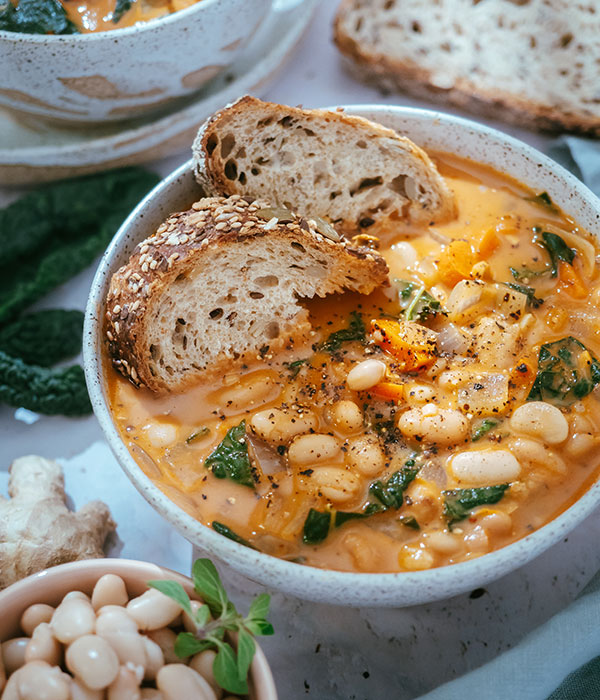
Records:
[[[346,110],[412,138],[456,196],[443,225],[365,231],[389,287],[304,302],[313,343],[289,356],[136,389],[108,360],[105,299],[136,244],[200,197],[186,163],[106,251],[84,363],[120,464],[195,545],[303,598],[411,605],[521,566],[598,504],[600,202],[476,123]],[[267,475],[256,490],[214,473],[240,436]]]

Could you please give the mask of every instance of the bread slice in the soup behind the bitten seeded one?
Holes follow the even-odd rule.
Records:
[[[429,156],[360,117],[243,97],[201,127],[193,146],[209,194],[264,197],[354,235],[454,215],[454,195]]]

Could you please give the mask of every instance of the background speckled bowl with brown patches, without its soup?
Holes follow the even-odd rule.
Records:
[[[164,109],[230,66],[272,0],[199,0],[165,17],[96,34],[0,30],[0,105],[65,122]]]

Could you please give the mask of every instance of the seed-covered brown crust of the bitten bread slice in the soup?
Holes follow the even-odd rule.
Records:
[[[291,213],[283,217],[285,221],[275,217],[267,221],[264,215],[257,215],[268,208],[264,201],[239,195],[201,199],[191,209],[171,215],[155,234],[138,244],[129,262],[114,273],[106,298],[104,334],[113,366],[135,386],[146,386],[154,392],[173,388],[150,369],[145,316],[153,301],[177,277],[197,269],[211,250],[269,236],[285,240],[286,245],[297,242],[337,256],[340,269],[343,266],[345,272],[354,275],[356,291],[361,293],[389,283],[384,259],[370,249],[332,240],[334,234],[323,235],[315,229],[314,222]],[[341,275],[329,282],[344,286]],[[231,367],[230,358],[226,364]],[[190,373],[185,386],[197,378],[198,373]],[[180,388],[184,386],[177,387]]]

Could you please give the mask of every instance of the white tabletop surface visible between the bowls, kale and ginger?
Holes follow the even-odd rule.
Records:
[[[337,0],[321,0],[317,14],[287,68],[264,93],[270,100],[307,107],[335,104],[428,106],[382,95],[346,74],[331,42]],[[457,112],[460,113],[460,112]],[[489,122],[544,149],[548,139]],[[182,153],[151,164],[165,175],[189,157]],[[14,193],[0,189],[0,204]],[[83,309],[93,270],[56,290],[43,306]],[[189,573],[192,548],[146,504],[103,441],[94,417],[41,417],[28,425],[0,406],[0,489],[6,491],[12,459],[35,453],[65,468],[72,504],[101,498],[118,522],[113,556],[146,559]],[[350,609],[275,593],[276,635],[262,641],[281,700],[408,700],[475,668],[514,645],[563,608],[600,566],[600,517],[588,518],[567,539],[529,565],[486,587],[485,593],[398,610]],[[260,586],[220,566],[242,609]],[[499,698],[501,689],[481,689]]]

